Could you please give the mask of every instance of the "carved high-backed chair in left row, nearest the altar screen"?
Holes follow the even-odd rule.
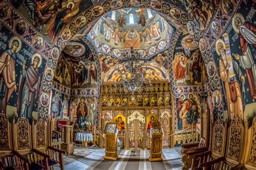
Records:
[[[45,157],[48,156],[47,161],[44,162],[46,169],[56,164],[59,164],[60,169],[64,169],[63,153],[65,151],[49,146],[47,138],[51,135],[48,134],[48,124],[43,119],[38,119],[36,123],[32,123],[32,133],[33,148],[38,152],[44,153]]]

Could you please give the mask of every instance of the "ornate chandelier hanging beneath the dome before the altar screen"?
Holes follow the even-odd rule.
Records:
[[[124,92],[131,91],[132,95],[137,90],[139,93],[143,91],[143,84],[150,83],[150,79],[145,79],[146,76],[146,60],[140,60],[138,52],[134,52],[131,48],[131,52],[126,53],[124,59],[120,61],[122,66],[117,68],[120,74],[121,83],[124,86]],[[145,66],[143,68],[143,66]],[[115,82],[116,85],[116,82]]]

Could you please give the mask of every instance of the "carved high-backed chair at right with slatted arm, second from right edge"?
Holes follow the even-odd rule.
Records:
[[[219,132],[218,127],[213,131]],[[218,135],[218,134],[215,134]],[[224,138],[225,136],[223,136]],[[213,138],[213,140],[217,140]],[[227,140],[221,139],[218,143],[215,143],[212,147],[212,151],[198,153],[188,156],[191,160],[191,169],[204,168],[204,169],[241,169],[241,153],[243,151],[243,140],[244,140],[244,125],[238,116],[235,116],[228,127]],[[226,144],[226,152],[223,152],[223,148],[219,148],[218,151],[223,153],[220,156],[217,150],[217,146],[221,144]]]

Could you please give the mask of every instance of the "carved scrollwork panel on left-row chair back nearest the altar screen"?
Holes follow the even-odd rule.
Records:
[[[39,119],[36,123],[37,134],[37,147],[45,146],[45,122],[43,119]]]

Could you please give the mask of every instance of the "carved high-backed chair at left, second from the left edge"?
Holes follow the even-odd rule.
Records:
[[[49,159],[45,155],[32,148],[31,125],[25,117],[12,122],[12,134],[14,136],[14,155],[21,169],[46,169],[44,162]]]

